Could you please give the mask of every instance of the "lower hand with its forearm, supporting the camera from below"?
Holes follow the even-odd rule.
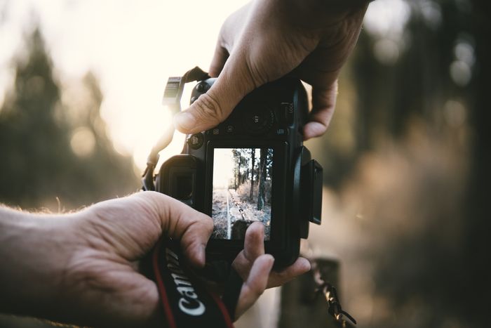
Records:
[[[203,266],[213,230],[210,217],[158,192],[112,199],[63,216],[9,213],[9,225],[0,220],[0,259],[11,264],[0,269],[6,296],[0,310],[96,327],[161,326],[159,292],[140,274],[138,261],[166,235],[180,240],[191,265]],[[1,209],[0,214],[3,219]],[[262,294],[273,262],[271,256],[261,256],[264,236],[254,232],[257,228],[251,231],[249,236],[255,237],[247,237],[248,262],[238,268],[245,284],[236,313]],[[271,284],[305,269],[305,264],[294,265],[281,280],[271,273]]]

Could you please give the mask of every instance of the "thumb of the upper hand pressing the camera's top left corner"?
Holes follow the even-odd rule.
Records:
[[[175,128],[191,134],[217,126],[229,117],[245,95],[262,84],[256,81],[243,55],[232,52],[210,90],[187,110],[175,114]]]

